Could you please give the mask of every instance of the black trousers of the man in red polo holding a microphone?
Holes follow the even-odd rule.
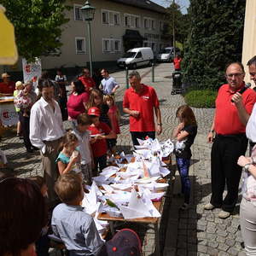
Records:
[[[245,134],[234,136],[217,135],[212,144],[211,175],[212,198],[214,207],[222,207],[225,212],[233,212],[238,198],[238,187],[241,178],[241,166],[237,165],[240,155],[247,150]],[[223,200],[225,184],[228,193]]]

